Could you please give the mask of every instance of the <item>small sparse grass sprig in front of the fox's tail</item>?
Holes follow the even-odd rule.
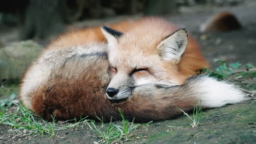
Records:
[[[194,127],[197,127],[200,124],[200,121],[201,121],[201,118],[202,118],[201,101],[200,101],[199,106],[197,106],[196,103],[195,103],[194,110],[193,110],[193,118],[190,117],[187,112],[183,111],[179,107],[177,107],[177,109],[181,110],[184,113],[184,115],[186,115],[192,122],[191,124],[186,125],[184,127],[193,127],[194,128]],[[174,126],[167,126],[167,127],[170,127],[170,128],[184,128],[184,127],[174,127]]]

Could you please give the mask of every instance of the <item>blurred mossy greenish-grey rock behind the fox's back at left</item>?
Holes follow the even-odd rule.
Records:
[[[0,49],[0,80],[19,79],[43,46],[32,40],[11,43]]]

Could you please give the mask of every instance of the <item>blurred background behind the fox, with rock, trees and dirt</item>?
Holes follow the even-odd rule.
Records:
[[[197,39],[213,59],[256,64],[255,0],[0,1],[0,79],[20,79],[57,35],[124,19],[161,16]]]

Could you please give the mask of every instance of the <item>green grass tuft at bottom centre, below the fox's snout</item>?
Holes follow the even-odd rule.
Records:
[[[98,127],[95,123],[95,121],[90,121],[87,122],[88,126],[92,131],[95,132],[96,136],[90,135],[92,137],[98,137],[101,140],[98,141],[97,143],[112,143],[114,141],[129,141],[132,137],[132,130],[142,126],[142,125],[147,125],[151,122],[148,122],[146,124],[135,124],[133,121],[129,122],[124,118],[123,113],[119,109],[122,121],[121,125],[113,124],[112,121],[106,125],[103,122],[103,119],[98,118],[101,121],[101,127]],[[134,120],[134,119],[133,119]]]

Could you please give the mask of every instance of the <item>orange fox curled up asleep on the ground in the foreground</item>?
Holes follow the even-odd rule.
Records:
[[[231,83],[196,75],[206,67],[184,28],[143,17],[61,35],[27,69],[19,98],[45,119],[119,120],[120,109],[141,123],[247,99]]]

